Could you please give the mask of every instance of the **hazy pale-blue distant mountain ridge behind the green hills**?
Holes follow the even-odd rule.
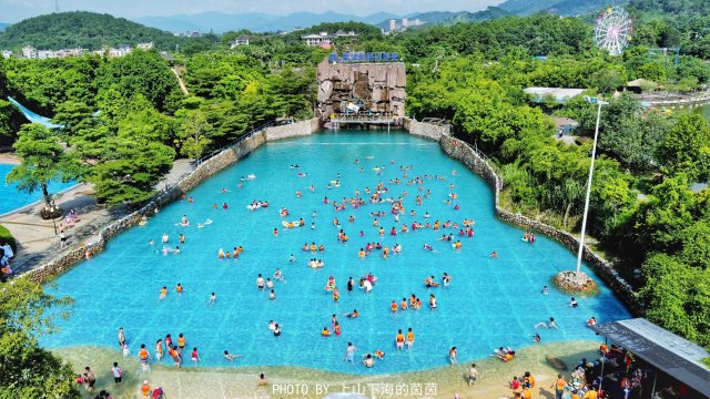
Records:
[[[375,24],[390,18],[399,17],[387,12],[378,12],[367,17],[343,14],[333,11],[323,13],[296,12],[287,16],[255,12],[243,14],[203,12],[193,16],[142,17],[135,19],[135,21],[170,32],[212,31],[214,33],[224,33],[226,31],[237,31],[242,29],[246,29],[252,32],[292,31],[295,28],[307,28],[324,22],[353,21]]]

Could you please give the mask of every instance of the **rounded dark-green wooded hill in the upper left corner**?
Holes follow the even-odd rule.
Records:
[[[172,47],[175,38],[123,18],[93,12],[60,12],[26,19],[0,33],[0,49],[33,45],[42,50],[154,42],[158,48]]]

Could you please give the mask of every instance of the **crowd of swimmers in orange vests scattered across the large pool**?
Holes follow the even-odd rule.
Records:
[[[298,166],[296,165],[295,167],[292,165],[292,168],[298,168]],[[377,172],[381,172],[385,168],[385,166],[378,167]],[[415,176],[412,180],[407,180],[407,173],[409,173],[409,171],[412,170],[412,166],[408,167],[400,167],[400,171],[404,172],[404,178],[406,181],[407,185],[410,186],[417,186],[417,190],[420,192],[418,195],[416,195],[416,203],[418,205],[423,205],[424,202],[426,200],[428,200],[432,195],[432,191],[430,190],[426,190],[424,188],[424,183],[426,180],[432,180],[432,178],[436,178],[439,181],[444,181],[446,180],[445,176],[439,176],[439,175],[423,175],[423,176]],[[362,171],[361,171],[362,172]],[[382,174],[382,173],[381,173]],[[454,175],[456,175],[455,173],[453,173]],[[298,176],[300,177],[304,177],[307,176],[306,173],[302,173],[298,172]],[[339,174],[338,174],[339,177]],[[243,178],[244,180],[244,178]],[[329,184],[328,184],[328,188],[332,187],[339,187],[341,186],[341,181],[339,178],[337,180],[333,180]],[[394,184],[394,185],[399,185],[402,184],[402,181],[399,178],[393,178],[389,180],[389,184]],[[449,190],[453,190],[454,185],[449,184]],[[308,190],[311,192],[315,192],[315,187],[313,185],[311,185],[308,187]],[[229,191],[226,188],[222,190],[222,193],[227,193]],[[393,197],[389,196],[390,195],[390,191],[387,186],[385,186],[385,184],[379,181],[376,185],[376,187],[374,190],[371,190],[369,187],[365,187],[364,193],[366,195],[369,195],[369,203],[371,204],[390,204],[390,209],[389,212],[384,212],[384,211],[377,211],[377,212],[371,212],[369,215],[373,217],[373,222],[372,222],[372,226],[373,229],[376,232],[377,235],[379,235],[379,237],[385,237],[385,235],[389,235],[390,237],[395,237],[399,234],[407,234],[409,232],[416,232],[419,229],[432,229],[432,231],[436,231],[436,232],[440,232],[440,231],[445,231],[445,229],[450,229],[450,232],[447,233],[443,233],[440,235],[439,241],[442,242],[447,242],[450,243],[452,247],[454,249],[462,249],[463,244],[460,239],[457,238],[471,238],[475,235],[474,232],[474,226],[475,226],[475,222],[473,218],[464,218],[463,222],[460,222],[460,224],[458,222],[452,222],[452,221],[439,221],[436,219],[435,217],[432,217],[432,215],[428,212],[425,212],[424,214],[420,215],[420,217],[424,218],[424,223],[419,223],[417,221],[412,222],[410,224],[408,223],[400,223],[399,217],[403,215],[407,215],[407,212],[404,207],[404,197],[406,197],[408,195],[408,193],[406,191],[404,191],[402,193],[402,196],[399,197]],[[303,193],[301,191],[296,192],[296,195],[298,197],[302,197]],[[184,196],[183,196],[184,200]],[[448,194],[448,198],[445,200],[445,204],[446,205],[453,205],[453,209],[454,211],[459,211],[460,207],[459,205],[456,203],[458,200],[458,195],[455,192],[450,192]],[[189,203],[193,203],[193,198],[190,197],[189,198]],[[332,206],[332,208],[335,212],[342,212],[347,209],[348,207],[352,209],[357,209],[361,206],[367,204],[367,201],[364,197],[361,197],[361,191],[356,190],[355,191],[355,196],[354,197],[343,197],[341,201],[336,201],[336,200],[332,200],[328,198],[327,196],[325,196],[323,198],[323,204],[329,205]],[[250,211],[255,211],[255,209],[260,209],[260,208],[265,208],[268,207],[270,204],[267,201],[252,201],[252,203],[247,206],[247,208]],[[213,206],[214,208],[216,208],[216,204],[214,204]],[[226,209],[227,208],[227,204],[224,203],[223,204],[223,208]],[[282,207],[278,209],[278,215],[281,217],[286,217],[290,215],[290,211],[285,207]],[[392,216],[395,221],[395,224],[388,229],[385,229],[385,226],[381,225],[381,218],[387,217],[387,216]],[[410,217],[417,217],[417,212],[415,209],[410,209],[408,212],[408,215]],[[316,212],[313,212],[313,217],[316,217]],[[430,219],[434,219],[434,222],[429,222]],[[209,221],[209,219],[207,219]],[[211,223],[211,221],[209,221]],[[348,223],[354,223],[355,222],[355,215],[351,214],[347,217],[347,222]],[[206,225],[207,223],[205,223]],[[297,222],[293,222],[290,223],[293,224],[293,226],[305,226],[305,221],[302,218],[300,218]],[[333,218],[332,222],[333,226],[335,226],[336,228],[338,228],[338,234],[337,234],[337,241],[339,243],[347,243],[349,237],[347,235],[347,233],[345,232],[345,229],[343,228],[343,225],[341,223],[341,221],[337,217]],[[187,219],[186,215],[183,215],[181,223],[181,226],[189,226],[190,225],[190,221]],[[315,222],[312,223],[312,229],[315,228]],[[397,227],[399,226],[399,227]],[[290,227],[290,226],[285,226],[285,227]],[[274,236],[278,236],[278,228],[274,228],[273,231],[273,235]],[[361,231],[359,232],[359,236],[363,237],[365,236],[365,232]],[[163,244],[168,244],[168,235],[164,234],[163,235]],[[184,235],[181,234],[180,235],[180,241],[181,243],[184,243]],[[535,235],[530,232],[525,232],[525,235],[523,237],[523,241],[526,243],[535,243]],[[179,247],[176,247],[178,252],[179,252]],[[320,244],[316,245],[315,242],[312,242],[311,244],[308,244],[307,242],[302,246],[301,248],[303,252],[310,252],[310,253],[323,253],[325,250],[325,245],[324,244]],[[426,250],[432,250],[434,252],[434,247],[430,244],[424,244],[424,249]],[[242,246],[239,247],[234,247],[233,252],[224,252],[222,248],[220,248],[219,250],[219,258],[220,259],[225,259],[225,258],[239,258],[240,255],[244,252]],[[399,254],[402,252],[402,245],[399,245],[398,243],[395,244],[392,248],[389,248],[387,245],[383,245],[379,242],[372,242],[372,243],[367,243],[364,247],[359,248],[358,250],[358,257],[359,258],[364,258],[368,255],[371,255],[374,252],[382,252],[382,256],[384,258],[386,258],[389,254]],[[498,256],[498,254],[494,250],[490,253],[490,257],[491,258],[496,258]],[[295,262],[295,257],[293,255],[291,255],[290,257],[290,262]],[[320,267],[324,267],[325,263],[322,259],[318,258],[311,258],[307,262],[307,265],[314,268],[320,268]],[[274,277],[272,278],[264,278],[264,276],[262,274],[257,275],[256,278],[256,288],[258,290],[264,290],[268,293],[268,299],[275,300],[276,296],[275,296],[275,289],[274,289],[274,282],[276,280],[281,280],[285,283],[285,279],[283,277],[283,274],[280,269],[276,269],[276,273],[274,273]],[[347,291],[353,291],[355,287],[358,287],[359,289],[362,289],[365,294],[372,291],[373,287],[375,286],[377,282],[377,277],[375,275],[373,275],[372,273],[367,273],[366,275],[359,277],[357,279],[357,285],[355,283],[355,279],[353,279],[353,277],[349,277],[347,280]],[[448,287],[452,283],[452,277],[445,272],[443,273],[443,276],[440,278],[440,283],[439,280],[437,280],[435,278],[434,275],[426,277],[424,280],[424,285],[426,288],[437,288],[437,287]],[[175,293],[178,295],[181,295],[184,291],[184,287],[181,284],[178,284],[174,288]],[[334,276],[329,276],[326,285],[324,286],[324,290],[326,293],[329,293],[332,295],[332,299],[334,301],[338,301],[339,300],[339,289],[336,285],[335,282],[335,277]],[[547,287],[544,289],[544,294],[547,294]],[[159,297],[159,301],[165,299],[168,296],[168,288],[166,287],[162,287],[162,289],[160,290],[160,297]],[[433,293],[428,293],[428,307],[430,310],[435,310],[438,307],[437,304],[437,298]],[[216,294],[212,293],[209,299],[207,305],[212,306],[214,305],[216,300]],[[576,300],[575,298],[571,299],[571,304],[570,306],[576,307]],[[389,304],[389,311],[393,315],[396,315],[398,313],[402,311],[406,311],[408,309],[412,310],[418,310],[422,309],[423,307],[423,301],[419,297],[417,297],[415,294],[412,294],[408,298],[403,297],[402,300],[397,300],[397,299],[393,299],[392,303]],[[359,311],[357,309],[353,309],[353,311],[351,313],[346,313],[343,314],[343,316],[353,319],[353,318],[357,318],[361,316]],[[596,319],[592,317],[590,320],[588,320],[588,326],[591,326],[596,324]],[[555,319],[550,317],[549,323],[540,323],[538,325],[535,326],[536,328],[557,328],[557,325],[555,324]],[[331,325],[329,326],[324,326],[321,330],[320,334],[322,337],[332,337],[332,336],[341,336],[342,335],[342,326],[339,324],[339,321],[337,320],[337,316],[334,314],[332,315],[331,318]],[[282,332],[282,325],[274,321],[274,320],[270,320],[268,323],[268,330],[273,334],[274,337],[278,337],[281,336]],[[539,335],[536,334],[536,336],[538,337],[539,340]],[[397,330],[397,334],[395,335],[395,348],[396,349],[404,349],[405,346],[408,349],[412,349],[414,346],[414,339],[415,335],[412,328],[408,328],[407,332],[403,332],[402,329]],[[125,344],[123,344],[125,346]],[[185,338],[183,336],[183,334],[180,334],[179,338],[178,338],[178,345],[173,345],[172,342],[172,338],[169,335],[165,336],[165,340],[158,340],[156,345],[155,345],[155,358],[156,361],[160,361],[160,359],[163,357],[163,354],[166,352],[168,356],[170,356],[173,359],[173,362],[175,364],[175,367],[180,367],[180,365],[182,364],[182,356],[183,356],[183,351],[184,348],[186,346],[185,342]],[[128,348],[128,347],[126,347]],[[354,355],[355,355],[356,348],[355,346],[352,345],[352,342],[348,342],[348,347],[346,349],[346,356],[345,359],[346,361],[354,361]],[[241,357],[242,355],[233,355],[230,354],[227,350],[224,350],[223,352],[223,357],[224,359],[229,360],[229,361],[233,361],[235,358]],[[501,361],[511,361],[515,358],[515,350],[510,349],[510,348],[499,348],[498,350],[496,350],[495,354],[496,357],[498,357]],[[365,367],[374,367],[375,365],[375,359],[378,360],[383,360],[385,357],[385,352],[381,349],[376,349],[372,352],[367,352],[365,355],[363,355],[362,357],[362,362]],[[457,364],[457,348],[456,347],[450,347],[449,351],[448,351],[448,360],[452,364],[452,366]],[[139,351],[139,358],[141,360],[141,362],[143,365],[148,365],[149,360],[151,359],[151,355],[148,352],[148,349],[145,348],[144,345],[141,346],[141,350]],[[200,358],[200,352],[197,351],[196,347],[193,347],[192,351],[190,352],[190,358],[194,364],[197,364],[201,358]],[[475,380],[475,379],[474,379]],[[469,380],[470,381],[470,380]]]

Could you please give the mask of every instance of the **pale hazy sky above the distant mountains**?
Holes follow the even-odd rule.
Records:
[[[296,11],[336,11],[367,16],[378,11],[407,14],[415,11],[479,11],[504,0],[58,0],[60,11],[95,11],[115,17]],[[18,22],[54,11],[54,0],[0,0],[0,22]]]

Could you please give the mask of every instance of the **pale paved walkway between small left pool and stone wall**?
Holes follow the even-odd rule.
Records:
[[[170,173],[155,185],[155,190],[163,190],[176,184],[192,170],[190,160],[175,161]],[[108,208],[105,205],[97,204],[97,201],[91,196],[92,192],[91,184],[79,184],[55,197],[57,205],[64,211],[64,214],[73,208],[79,213],[80,218],[75,226],[67,231],[68,245],[64,246],[64,249],[88,239],[105,225],[130,213],[128,206]],[[59,256],[63,250],[60,248],[59,235],[54,232],[54,223],[42,221],[39,215],[43,203],[39,203],[0,217],[0,224],[8,228],[18,242],[18,252],[13,262],[14,275],[38,267]],[[57,232],[59,232],[59,225],[63,221],[55,219],[54,222]]]

